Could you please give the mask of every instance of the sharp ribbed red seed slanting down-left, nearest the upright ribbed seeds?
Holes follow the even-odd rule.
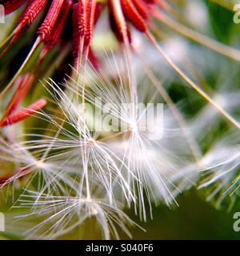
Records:
[[[54,26],[58,20],[59,14],[61,13],[64,0],[53,0],[46,18],[42,22],[42,25],[38,29],[38,34],[42,41],[46,42],[53,33]]]

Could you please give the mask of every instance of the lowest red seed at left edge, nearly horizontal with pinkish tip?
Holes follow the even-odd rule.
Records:
[[[17,122],[21,122],[22,120],[30,117],[30,115],[35,114],[36,111],[41,110],[44,106],[46,106],[46,100],[39,99],[37,102],[34,102],[34,104],[26,107],[26,109],[19,110],[15,114],[4,118],[0,122],[0,127],[10,126]]]

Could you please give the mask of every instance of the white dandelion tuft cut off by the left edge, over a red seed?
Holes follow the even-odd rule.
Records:
[[[0,178],[1,187],[21,178],[25,178],[26,186],[30,186],[38,177],[39,195],[46,191],[49,194],[66,193],[66,186],[74,189],[74,179],[70,177],[70,174],[75,174],[75,171],[72,166],[65,166],[64,157],[43,159],[38,151],[33,154],[27,150],[23,142],[10,143],[3,139],[0,140],[0,150],[2,162],[12,162],[14,159],[12,173]]]

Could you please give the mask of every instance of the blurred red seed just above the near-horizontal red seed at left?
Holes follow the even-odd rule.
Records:
[[[6,114],[4,118],[13,114],[14,111],[18,108],[19,104],[22,102],[23,98],[26,96],[30,86],[34,82],[33,74],[25,74],[19,81],[18,86],[14,92],[14,96],[11,98],[10,103],[6,109]]]

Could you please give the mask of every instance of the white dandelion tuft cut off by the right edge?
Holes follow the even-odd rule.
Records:
[[[221,206],[226,198],[234,201],[233,195],[238,193],[240,185],[238,136],[226,136],[218,141],[200,160],[200,166],[206,178],[203,178],[199,189],[207,189],[207,200],[215,199],[217,206]]]

